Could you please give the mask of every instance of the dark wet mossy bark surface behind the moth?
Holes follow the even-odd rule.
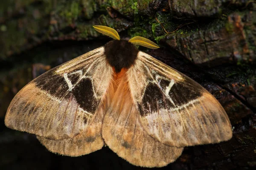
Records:
[[[0,6],[0,169],[147,169],[108,147],[86,156],[50,153],[34,135],[4,126],[6,109],[29,81],[111,39],[142,36],[161,48],[139,48],[191,77],[227,112],[233,138],[185,147],[160,169],[256,167],[256,3],[253,0],[13,0]],[[167,32],[167,33],[166,33]]]

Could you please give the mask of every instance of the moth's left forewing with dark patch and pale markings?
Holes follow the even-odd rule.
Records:
[[[72,138],[95,117],[112,72],[104,47],[52,68],[17,93],[5,124],[48,139]]]

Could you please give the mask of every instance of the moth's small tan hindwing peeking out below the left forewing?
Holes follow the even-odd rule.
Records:
[[[37,139],[53,153],[59,153],[66,156],[81,156],[92,153],[101,149],[104,145],[101,135],[104,114],[105,110],[103,106],[100,106],[90,124],[82,133],[73,138],[54,140],[37,136]]]

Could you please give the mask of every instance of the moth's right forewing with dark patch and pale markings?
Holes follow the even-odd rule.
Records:
[[[128,71],[133,100],[147,133],[169,146],[227,141],[227,113],[206,89],[143,52]]]

